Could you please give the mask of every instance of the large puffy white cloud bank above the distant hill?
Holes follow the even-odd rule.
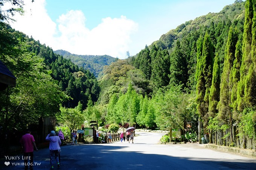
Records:
[[[24,16],[16,16],[11,26],[46,44],[53,50],[66,50],[81,55],[110,55],[123,59],[131,44],[130,36],[138,24],[125,16],[103,18],[102,23],[89,30],[82,11],[67,11],[54,23],[45,9],[45,0],[27,2]],[[30,10],[31,9],[31,10]],[[57,29],[58,28],[58,29]]]

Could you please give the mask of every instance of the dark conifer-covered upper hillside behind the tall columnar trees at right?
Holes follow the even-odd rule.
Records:
[[[146,46],[133,57],[131,64],[144,72],[148,80],[152,81],[153,88],[158,89],[171,82],[176,85],[183,84],[183,89],[187,91],[195,90],[197,40],[200,37],[202,39],[205,33],[210,36],[212,53],[219,57],[222,72],[229,27],[236,27],[238,38],[240,41],[242,39],[244,4],[242,1],[236,1],[219,13],[209,13],[181,24],[162,35],[149,47]],[[169,59],[163,57],[166,56],[165,51],[168,51]],[[160,74],[160,70],[166,75]]]

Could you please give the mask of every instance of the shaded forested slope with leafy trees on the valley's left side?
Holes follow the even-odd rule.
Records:
[[[84,109],[89,100],[98,100],[100,88],[90,71],[3,22],[0,39],[0,60],[17,78],[15,88],[0,92],[4,130],[26,128],[41,116],[55,116],[60,105],[74,108],[80,102]]]

